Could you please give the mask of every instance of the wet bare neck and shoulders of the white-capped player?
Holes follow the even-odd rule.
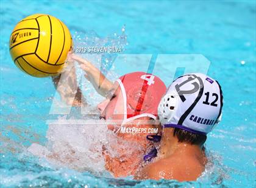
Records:
[[[179,143],[173,130],[164,129],[157,158],[137,173],[135,179],[196,181],[204,172],[207,163],[204,147]]]

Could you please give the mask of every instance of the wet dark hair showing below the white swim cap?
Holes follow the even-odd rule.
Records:
[[[173,136],[178,138],[179,143],[188,143],[191,145],[202,145],[207,138],[205,135],[199,135],[179,128],[174,129]]]

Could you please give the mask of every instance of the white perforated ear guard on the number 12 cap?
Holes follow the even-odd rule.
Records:
[[[171,121],[172,117],[174,116],[178,107],[177,97],[177,92],[172,91],[169,94],[163,96],[161,99],[157,111],[162,126]]]

